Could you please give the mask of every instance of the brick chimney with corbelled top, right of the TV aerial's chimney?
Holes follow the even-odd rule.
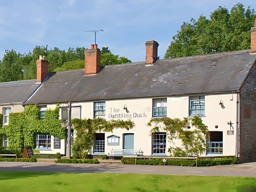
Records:
[[[146,41],[146,64],[153,64],[157,61],[157,47],[156,41]]]

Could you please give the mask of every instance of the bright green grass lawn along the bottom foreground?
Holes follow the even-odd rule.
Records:
[[[0,172],[1,192],[255,192],[256,177]]]

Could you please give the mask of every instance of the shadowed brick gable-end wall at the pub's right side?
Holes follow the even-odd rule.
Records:
[[[256,63],[240,93],[239,162],[256,161]]]

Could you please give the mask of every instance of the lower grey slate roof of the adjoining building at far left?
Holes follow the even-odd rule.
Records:
[[[0,105],[23,104],[39,85],[36,79],[0,83]]]

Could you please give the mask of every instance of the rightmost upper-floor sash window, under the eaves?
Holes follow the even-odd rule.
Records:
[[[204,96],[189,97],[189,116],[204,116]]]

